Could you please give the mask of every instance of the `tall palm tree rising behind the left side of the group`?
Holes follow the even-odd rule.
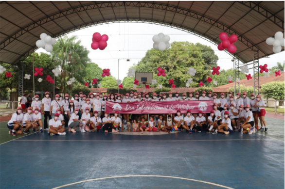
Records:
[[[76,82],[84,83],[85,67],[90,61],[89,51],[80,45],[80,40],[75,41],[76,39],[77,36],[64,36],[53,46],[52,59],[56,60],[56,65],[61,68],[60,90],[63,93],[71,91],[72,86],[67,86],[66,83],[70,78],[74,77]]]

